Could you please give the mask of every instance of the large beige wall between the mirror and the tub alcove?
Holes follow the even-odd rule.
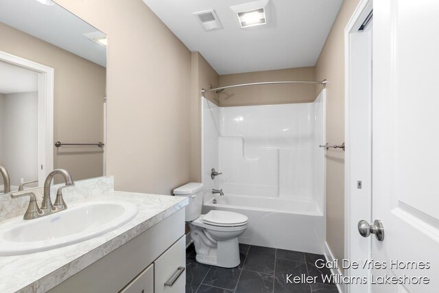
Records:
[[[56,0],[108,36],[108,175],[171,194],[191,180],[191,52],[141,0]]]

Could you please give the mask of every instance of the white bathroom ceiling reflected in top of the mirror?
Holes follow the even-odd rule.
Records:
[[[59,5],[44,5],[36,0],[0,0],[0,22],[106,66],[106,48],[83,35],[98,30]]]

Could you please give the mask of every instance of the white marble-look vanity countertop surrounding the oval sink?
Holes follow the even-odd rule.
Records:
[[[187,205],[187,198],[124,191],[106,191],[73,203],[104,200],[133,202],[139,211],[127,224],[78,244],[0,257],[0,292],[46,292]]]

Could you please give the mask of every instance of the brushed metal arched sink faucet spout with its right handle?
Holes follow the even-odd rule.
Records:
[[[61,209],[67,209],[67,205],[65,204],[64,200],[62,199],[62,189],[65,186],[62,186],[58,189],[56,193],[56,200],[55,200],[55,207],[52,204],[52,201],[50,199],[50,183],[52,182],[52,179],[56,174],[62,175],[64,177],[64,181],[66,183],[66,186],[73,186],[75,183],[73,183],[73,180],[69,174],[64,169],[54,169],[54,171],[50,172],[46,180],[44,182],[44,194],[43,194],[43,202],[41,202],[41,211],[43,213],[54,213],[54,211],[60,211]]]

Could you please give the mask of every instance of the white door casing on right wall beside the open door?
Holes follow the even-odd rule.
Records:
[[[351,54],[351,35],[358,31],[361,24],[372,11],[372,0],[360,0],[357,8],[353,12],[351,19],[348,21],[344,29],[344,110],[345,110],[345,141],[346,151],[344,154],[344,259],[351,259],[353,252],[351,251],[351,220],[355,212],[363,207],[351,200],[351,188],[353,182],[351,180],[351,150],[349,149],[351,141],[351,81],[352,81],[352,54]],[[370,201],[370,208],[372,201]],[[366,239],[365,239],[366,240]],[[366,240],[367,241],[367,240]],[[369,245],[370,253],[370,245]],[[344,275],[349,275],[350,270],[345,270]],[[344,285],[342,292],[351,292],[348,285]]]

